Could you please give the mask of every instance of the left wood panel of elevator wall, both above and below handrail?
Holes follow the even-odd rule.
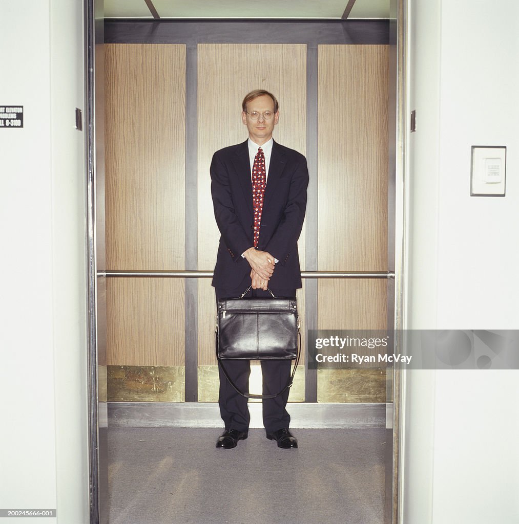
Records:
[[[105,46],[107,269],[184,269],[185,57]],[[107,279],[107,364],[183,363],[184,281]]]

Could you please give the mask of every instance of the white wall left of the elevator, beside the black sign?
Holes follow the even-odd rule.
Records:
[[[81,4],[0,4],[0,105],[24,106],[0,130],[0,508],[66,524],[89,511]]]

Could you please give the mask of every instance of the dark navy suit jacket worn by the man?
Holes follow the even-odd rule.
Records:
[[[213,286],[237,289],[250,274],[249,263],[241,254],[253,245],[247,140],[216,151],[210,173],[216,223],[221,233]],[[279,260],[269,281],[272,289],[301,287],[297,242],[303,227],[307,187],[305,157],[274,142],[258,240],[258,249]]]

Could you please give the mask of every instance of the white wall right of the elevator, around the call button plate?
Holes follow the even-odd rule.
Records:
[[[519,328],[519,5],[409,2],[409,329]],[[472,145],[507,146],[505,198],[470,196]],[[518,371],[405,378],[401,522],[519,521]]]

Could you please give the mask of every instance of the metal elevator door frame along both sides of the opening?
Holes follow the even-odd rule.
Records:
[[[399,14],[402,12],[403,2],[400,0],[399,4]],[[91,409],[90,409],[90,428],[91,428],[91,439],[90,439],[90,454],[91,454],[91,522],[98,522],[100,513],[102,514],[103,502],[100,499],[100,489],[99,485],[107,482],[105,478],[102,481],[103,473],[99,468],[99,450],[100,447],[103,447],[103,440],[105,435],[103,435],[102,428],[106,427],[107,423],[107,413],[103,409],[99,410],[98,406],[98,386],[99,386],[99,377],[97,376],[98,372],[98,340],[99,340],[99,326],[97,324],[97,304],[99,294],[104,293],[103,286],[99,287],[98,282],[100,281],[99,277],[102,277],[101,280],[104,280],[106,273],[101,270],[98,270],[98,261],[100,257],[104,258],[104,245],[96,244],[96,227],[104,228],[104,217],[96,213],[95,206],[95,192],[98,187],[102,187],[104,180],[104,171],[103,171],[103,140],[104,136],[102,133],[102,115],[104,113],[104,107],[102,105],[102,93],[100,93],[101,86],[99,85],[99,77],[97,75],[102,71],[102,51],[100,51],[103,43],[103,33],[102,24],[100,24],[99,16],[94,15],[94,8],[99,5],[97,0],[88,0],[86,2],[86,21],[87,21],[87,67],[88,67],[88,89],[87,89],[87,102],[88,102],[88,162],[89,162],[89,313],[90,313],[90,396],[91,396]],[[102,18],[101,18],[102,21]],[[399,18],[397,17],[397,22]],[[400,16],[401,21],[401,16]],[[273,24],[276,21],[271,21]],[[403,100],[403,56],[404,56],[404,47],[402,42],[403,29],[401,28],[401,23],[394,24],[391,27],[391,36],[390,36],[390,97],[389,105],[390,112],[389,115],[393,114],[394,121],[390,120],[390,136],[389,136],[389,184],[394,184],[396,199],[391,203],[394,206],[395,211],[395,225],[393,228],[389,227],[388,224],[388,253],[394,253],[394,256],[388,257],[389,271],[387,278],[389,279],[390,288],[394,290],[393,295],[393,305],[394,309],[392,312],[395,329],[398,329],[401,324],[400,319],[400,294],[401,294],[401,274],[400,274],[400,260],[401,260],[401,245],[400,242],[396,242],[395,231],[398,231],[398,239],[401,238],[401,231],[403,231],[403,209],[399,208],[399,204],[402,201],[403,188],[401,187],[401,181],[396,179],[395,174],[401,172],[401,166],[399,164],[399,156],[401,156],[401,140],[397,140],[397,136],[401,135],[401,122],[403,120],[402,115],[400,114],[401,108],[397,101]],[[397,39],[398,36],[398,39]],[[397,45],[398,42],[398,45]],[[278,43],[278,42],[269,42],[269,43]],[[328,43],[328,42],[320,42]],[[101,56],[101,59],[100,59]],[[394,60],[394,63],[391,63],[391,59]],[[393,66],[393,67],[391,67]],[[188,73],[189,74],[189,73]],[[98,78],[98,82],[96,82]],[[394,82],[393,82],[394,80]],[[391,92],[391,86],[395,89],[395,92]],[[316,93],[314,93],[316,95]],[[394,99],[391,99],[391,94],[394,94]],[[311,93],[308,93],[308,96],[311,96]],[[391,105],[394,103],[393,111],[391,111]],[[96,118],[97,115],[97,118]],[[395,125],[393,125],[395,124]],[[394,128],[394,129],[393,129]],[[394,132],[395,136],[391,136]],[[307,139],[308,140],[308,139]],[[97,143],[97,147],[96,147]],[[396,155],[396,151],[399,151],[399,155]],[[308,152],[307,152],[308,154]],[[99,195],[98,195],[99,196]],[[403,206],[402,206],[403,208]],[[388,221],[391,220],[391,214],[388,215]],[[397,267],[395,267],[395,261],[397,262]],[[391,268],[393,265],[393,268]],[[104,266],[103,266],[104,267]],[[392,269],[392,270],[391,270]],[[393,280],[394,279],[394,280]],[[314,280],[316,283],[316,281]],[[390,309],[390,308],[389,308]],[[389,311],[388,311],[389,315]],[[315,319],[316,325],[316,319]],[[311,329],[311,328],[310,328]],[[103,334],[101,334],[101,337]],[[316,377],[315,377],[316,380]],[[311,384],[311,380],[310,380]],[[305,387],[310,387],[306,386]],[[395,522],[396,518],[396,504],[393,503],[393,500],[396,500],[396,463],[397,463],[397,450],[398,450],[398,405],[397,401],[399,398],[399,375],[393,374],[392,380],[388,381],[388,392],[391,392],[391,397],[394,399],[394,410],[391,414],[392,419],[392,441],[393,445],[390,446],[391,449],[391,460],[393,467],[389,472],[393,477],[393,488],[391,489],[390,495],[390,508],[386,508],[386,521]],[[186,399],[187,401],[187,399]],[[106,406],[103,407],[104,409]],[[106,484],[108,485],[108,484]],[[386,497],[386,502],[388,498]],[[386,504],[387,506],[387,504]],[[387,512],[389,511],[389,512]],[[389,520],[388,520],[389,519]]]

